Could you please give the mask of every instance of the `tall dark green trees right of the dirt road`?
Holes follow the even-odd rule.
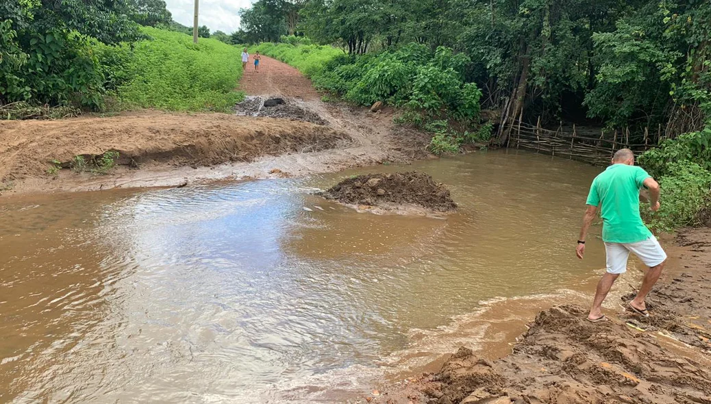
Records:
[[[272,23],[245,27],[250,41],[278,41],[285,3],[255,3],[249,12]],[[467,55],[464,82],[505,121],[523,113],[630,127],[636,142],[643,127],[674,137],[711,117],[707,0],[305,0],[294,9],[297,33],[349,54],[418,43]]]

